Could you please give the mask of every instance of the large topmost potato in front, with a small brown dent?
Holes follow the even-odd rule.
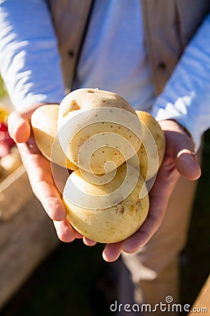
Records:
[[[69,93],[59,106],[58,135],[73,164],[104,174],[139,150],[141,122],[133,107],[116,93],[82,88]]]

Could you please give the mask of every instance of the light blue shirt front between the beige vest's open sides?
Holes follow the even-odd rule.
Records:
[[[141,1],[97,0],[74,88],[102,88],[148,111],[155,100]]]

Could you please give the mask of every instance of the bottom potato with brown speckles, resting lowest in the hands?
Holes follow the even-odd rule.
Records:
[[[106,173],[95,183],[89,176],[78,169],[66,181],[63,202],[71,225],[95,242],[109,244],[130,237],[148,214],[148,192],[141,175],[124,163],[115,175]]]

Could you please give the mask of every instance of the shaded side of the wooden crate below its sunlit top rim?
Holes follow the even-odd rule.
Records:
[[[35,197],[0,223],[0,310],[58,245],[52,220]]]

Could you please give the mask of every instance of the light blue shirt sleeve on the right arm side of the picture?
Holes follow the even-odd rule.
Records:
[[[158,119],[176,119],[200,147],[210,127],[210,15],[188,44],[152,110]]]

